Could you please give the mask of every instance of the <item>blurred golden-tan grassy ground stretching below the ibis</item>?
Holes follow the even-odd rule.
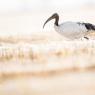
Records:
[[[91,74],[95,71],[95,41],[48,37],[33,40],[14,37],[1,41],[0,94],[55,95],[57,92],[56,95],[63,95],[69,90],[83,93],[89,87],[94,89],[95,77]],[[94,93],[94,90],[87,91]]]

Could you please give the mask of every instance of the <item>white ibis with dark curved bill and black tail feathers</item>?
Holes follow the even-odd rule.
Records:
[[[64,37],[68,39],[79,39],[79,38],[86,38],[86,35],[90,31],[95,31],[95,25],[90,23],[82,23],[82,22],[64,22],[62,24],[58,24],[59,22],[59,15],[57,13],[54,13],[51,17],[49,17],[46,22],[43,25],[46,25],[46,23],[52,19],[55,19],[54,22],[54,28],[57,32],[61,33]]]

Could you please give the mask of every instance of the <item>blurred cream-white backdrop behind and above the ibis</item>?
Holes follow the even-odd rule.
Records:
[[[0,34],[22,35],[53,31],[51,21],[42,29],[53,13],[64,21],[95,23],[95,0],[0,0]]]

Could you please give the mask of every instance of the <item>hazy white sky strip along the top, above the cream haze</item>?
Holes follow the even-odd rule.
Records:
[[[95,0],[0,0],[0,11],[77,8],[81,5],[95,5]]]

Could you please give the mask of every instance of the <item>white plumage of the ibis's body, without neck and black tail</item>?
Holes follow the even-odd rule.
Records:
[[[65,22],[59,26],[54,25],[55,30],[68,39],[78,39],[86,35],[87,29],[84,25],[75,22]]]

